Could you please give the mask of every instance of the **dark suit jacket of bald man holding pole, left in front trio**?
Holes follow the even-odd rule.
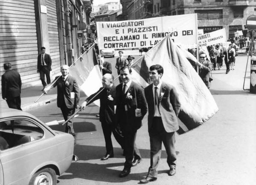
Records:
[[[103,87],[99,88],[99,91],[101,91],[102,88]],[[90,101],[87,104],[87,105],[90,105],[90,103],[99,99],[100,101],[99,121],[107,122],[108,124],[115,123],[114,105],[116,101],[116,86],[113,85],[110,91],[104,88],[96,97],[94,97],[99,91],[90,95],[85,101],[86,102]]]

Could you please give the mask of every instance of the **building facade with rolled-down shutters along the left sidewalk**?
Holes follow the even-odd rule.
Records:
[[[91,0],[92,2],[92,0]],[[52,58],[51,77],[63,64],[80,56],[81,0],[8,0],[0,2],[0,75],[3,63],[12,63],[23,87],[40,79],[37,58],[41,47]]]

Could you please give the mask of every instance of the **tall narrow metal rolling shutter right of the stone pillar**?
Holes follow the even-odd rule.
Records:
[[[52,74],[60,72],[60,49],[58,40],[58,23],[55,0],[46,0],[48,38],[50,46],[50,55],[52,58]]]

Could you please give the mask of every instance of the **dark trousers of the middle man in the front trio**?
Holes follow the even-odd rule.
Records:
[[[131,169],[133,159],[141,159],[140,151],[135,144],[137,131],[123,131],[125,137],[125,168]]]

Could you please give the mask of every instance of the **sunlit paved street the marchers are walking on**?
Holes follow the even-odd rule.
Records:
[[[116,53],[117,55],[118,53]],[[138,54],[125,51],[124,55]],[[140,56],[134,56],[136,58]],[[116,58],[116,57],[115,57]],[[115,58],[105,58],[112,63],[116,76]],[[235,70],[225,74],[225,67],[213,71],[212,88],[219,111],[209,121],[189,133],[176,135],[177,174],[166,174],[166,152],[162,152],[159,175],[151,185],[253,185],[256,182],[256,95],[243,91],[246,56],[236,57]],[[250,66],[248,66],[248,69]],[[247,73],[245,88],[249,87]],[[80,103],[85,99],[81,94]],[[56,102],[29,111],[44,122],[63,120]],[[131,174],[119,178],[125,162],[122,149],[113,138],[114,158],[99,160],[105,154],[105,141],[96,105],[89,105],[74,119],[77,133],[74,153],[79,161],[58,178],[58,185],[134,185],[147,174],[150,164],[147,115],[137,133],[136,144],[143,160],[131,169]],[[64,131],[64,126],[52,129]],[[164,148],[163,148],[164,150]]]

